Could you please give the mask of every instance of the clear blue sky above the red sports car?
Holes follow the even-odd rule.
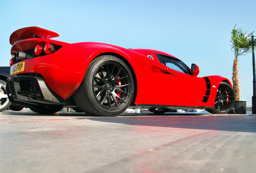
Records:
[[[255,0],[2,0],[0,66],[9,66],[12,32],[38,26],[63,42],[104,42],[161,50],[231,80],[231,30],[256,30]],[[255,34],[256,35],[256,34]],[[252,102],[252,54],[240,56],[240,87]],[[68,62],[67,62],[68,63]],[[242,99],[240,94],[240,99]]]

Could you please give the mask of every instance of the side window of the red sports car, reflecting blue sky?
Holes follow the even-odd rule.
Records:
[[[160,55],[156,54],[158,60],[166,65],[167,67],[179,71],[179,72],[184,72],[186,74],[191,74],[190,69],[188,66],[186,66],[181,60],[171,57],[171,56],[165,56],[165,55]]]

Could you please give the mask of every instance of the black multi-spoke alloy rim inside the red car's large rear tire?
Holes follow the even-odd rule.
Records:
[[[93,94],[99,105],[108,110],[122,108],[130,96],[131,82],[122,64],[102,63],[93,75]]]

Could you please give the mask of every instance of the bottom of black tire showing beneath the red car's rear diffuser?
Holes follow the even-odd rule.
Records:
[[[63,107],[62,106],[41,106],[41,105],[31,105],[29,109],[34,111],[35,113],[40,114],[52,114],[60,111]]]

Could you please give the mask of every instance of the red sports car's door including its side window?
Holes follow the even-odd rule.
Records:
[[[165,67],[165,97],[167,105],[195,107],[202,102],[206,91],[204,78],[192,76],[191,70],[181,60],[157,54]]]

